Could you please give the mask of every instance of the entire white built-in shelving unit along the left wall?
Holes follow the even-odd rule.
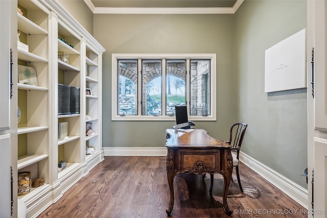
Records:
[[[18,74],[14,74],[17,95],[13,101],[18,103],[21,118],[13,128],[17,129],[17,139],[10,142],[18,154],[12,155],[18,173],[31,172],[32,183],[36,178],[44,179],[43,185],[31,188],[26,195],[17,197],[16,189],[13,195],[15,202],[25,202],[27,217],[35,217],[103,160],[105,50],[56,0],[13,0],[10,4],[17,4],[23,13],[17,13],[17,27],[11,28],[19,30],[20,42],[28,45],[28,51],[20,47],[14,51],[14,68],[34,67],[37,76],[35,86],[20,82]],[[69,59],[59,60],[58,52],[68,54]],[[58,84],[79,88],[79,112],[58,115]],[[91,89],[91,95],[86,95],[86,88]],[[17,108],[10,110],[17,113]],[[92,118],[86,119],[86,114]],[[62,122],[68,123],[68,139],[58,139],[58,125]],[[95,135],[86,136],[87,122],[92,123]],[[86,147],[95,152],[86,154]],[[61,160],[66,167],[60,170]]]

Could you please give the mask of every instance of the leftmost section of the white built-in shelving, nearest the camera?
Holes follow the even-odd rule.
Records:
[[[17,30],[20,31],[20,42],[28,45],[28,51],[17,48],[15,63],[34,67],[37,76],[37,86],[19,83],[17,79],[17,102],[21,118],[17,124],[19,172],[31,172],[30,183],[37,178],[44,179],[44,184],[31,188],[30,192],[18,196],[25,202],[28,215],[36,208],[45,207],[40,202],[39,195],[50,195],[51,166],[49,163],[49,135],[53,128],[49,126],[49,10],[40,9],[30,1],[18,1],[18,8],[23,14],[17,13]],[[42,48],[42,49],[41,49]],[[17,75],[18,77],[18,75]],[[16,180],[16,178],[14,178]],[[17,195],[17,193],[14,193]],[[45,198],[46,199],[46,198]],[[49,198],[50,200],[50,198]]]

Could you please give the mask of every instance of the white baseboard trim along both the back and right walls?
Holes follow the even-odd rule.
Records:
[[[166,147],[103,147],[103,152],[104,156],[167,156]],[[278,189],[282,190],[294,201],[308,209],[308,190],[302,188],[243,152],[240,152],[240,161]]]

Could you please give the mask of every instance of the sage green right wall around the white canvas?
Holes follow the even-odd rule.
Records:
[[[235,14],[242,151],[307,188],[307,89],[264,92],[265,50],[307,27],[306,1],[245,1]]]

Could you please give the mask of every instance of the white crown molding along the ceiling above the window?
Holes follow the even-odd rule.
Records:
[[[84,2],[94,14],[234,14],[244,0],[237,0],[232,8],[108,8]]]

